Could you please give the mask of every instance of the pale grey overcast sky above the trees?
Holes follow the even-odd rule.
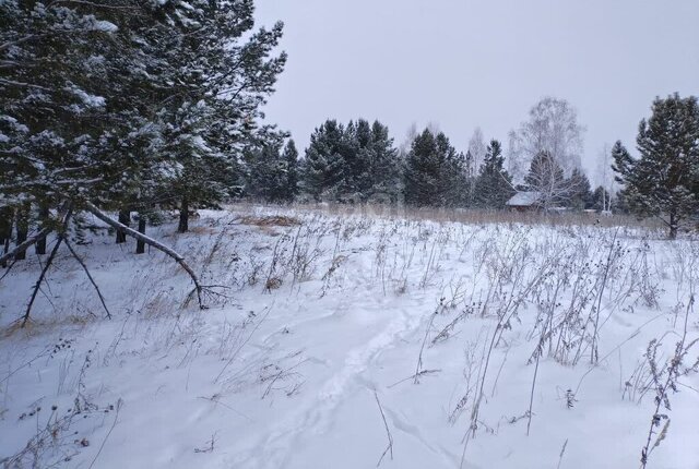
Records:
[[[549,95],[588,128],[583,166],[629,147],[656,95],[699,94],[699,0],[257,0],[285,23],[266,107],[299,148],[327,118],[379,119],[396,144],[436,123],[458,149],[507,133]]]

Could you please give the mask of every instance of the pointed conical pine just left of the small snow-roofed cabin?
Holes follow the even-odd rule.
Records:
[[[502,146],[491,140],[475,181],[474,202],[482,208],[502,208],[513,194],[512,178],[505,170]]]

